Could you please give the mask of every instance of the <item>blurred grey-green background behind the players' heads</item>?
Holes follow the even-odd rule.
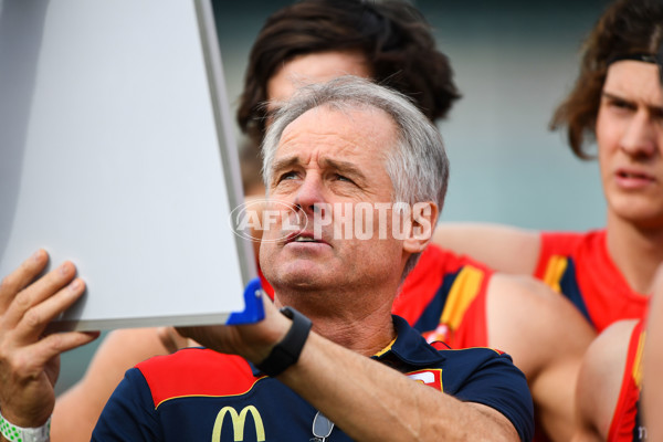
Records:
[[[255,35],[270,13],[291,2],[214,1],[233,113]],[[602,227],[596,161],[576,159],[565,135],[549,131],[548,122],[573,84],[581,43],[608,1],[413,3],[433,27],[463,94],[440,124],[451,160],[442,221],[545,230]],[[81,378],[95,349],[96,344],[62,357],[57,392]]]

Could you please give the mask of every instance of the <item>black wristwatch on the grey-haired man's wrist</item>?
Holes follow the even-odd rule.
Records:
[[[291,318],[293,325],[285,337],[272,348],[270,356],[256,364],[260,371],[271,377],[281,375],[299,359],[302,348],[304,348],[304,343],[306,343],[313,326],[311,319],[292,307],[283,307],[280,312]]]

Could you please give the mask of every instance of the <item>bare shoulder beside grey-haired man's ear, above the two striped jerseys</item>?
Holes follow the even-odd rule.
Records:
[[[540,251],[540,234],[488,223],[440,223],[433,242],[504,273],[532,275]]]

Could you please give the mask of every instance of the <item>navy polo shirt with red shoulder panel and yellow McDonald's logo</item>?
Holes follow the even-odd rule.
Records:
[[[375,359],[462,401],[504,414],[520,440],[534,433],[525,376],[490,348],[428,344],[393,316],[397,339]],[[386,389],[389,386],[385,386]],[[308,441],[317,410],[239,356],[187,348],[128,370],[94,430],[93,441]],[[335,427],[328,442],[350,441]]]

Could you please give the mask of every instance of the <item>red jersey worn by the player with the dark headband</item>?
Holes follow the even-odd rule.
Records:
[[[569,298],[599,333],[646,309],[649,296],[633,291],[612,262],[604,230],[541,233],[535,276]]]

